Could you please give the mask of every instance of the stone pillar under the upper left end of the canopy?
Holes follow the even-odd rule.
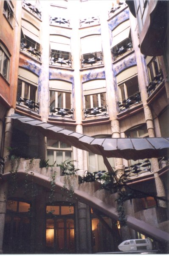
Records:
[[[11,116],[14,114],[14,108],[10,108],[7,112],[7,116]],[[11,138],[12,138],[12,119],[10,117],[6,118],[6,127],[5,127],[5,142],[4,142],[4,152],[3,156],[6,160],[8,160],[7,156],[9,154],[8,147],[11,146]]]

